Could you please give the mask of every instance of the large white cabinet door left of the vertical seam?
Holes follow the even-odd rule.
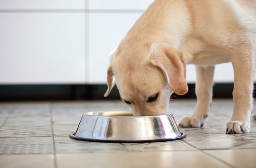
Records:
[[[85,14],[0,13],[0,83],[84,83]]]

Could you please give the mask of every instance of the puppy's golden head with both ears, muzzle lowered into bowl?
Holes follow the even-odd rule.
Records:
[[[166,43],[136,48],[120,44],[112,54],[107,81],[104,96],[116,84],[135,116],[166,114],[172,93],[188,91],[185,58]]]

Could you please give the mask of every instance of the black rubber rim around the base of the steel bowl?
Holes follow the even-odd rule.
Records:
[[[103,143],[151,143],[151,142],[163,142],[169,140],[180,140],[186,137],[186,133],[181,132],[179,137],[175,138],[167,138],[167,139],[157,139],[157,140],[99,140],[99,139],[91,139],[91,138],[84,138],[78,137],[75,135],[76,132],[70,133],[70,138],[75,140],[85,140],[85,141],[93,141],[93,142],[103,142]]]

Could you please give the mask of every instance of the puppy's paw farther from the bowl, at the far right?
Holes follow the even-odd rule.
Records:
[[[250,130],[250,122],[229,121],[227,122],[227,134],[248,133]]]

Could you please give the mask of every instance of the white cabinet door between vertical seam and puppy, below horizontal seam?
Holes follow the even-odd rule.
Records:
[[[140,13],[92,13],[89,16],[89,82],[105,84],[110,53]]]

